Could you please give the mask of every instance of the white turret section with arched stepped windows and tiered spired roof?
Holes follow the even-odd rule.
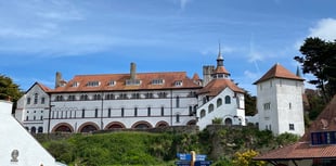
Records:
[[[230,73],[223,65],[223,58],[219,52],[217,67],[210,72],[208,84],[198,91],[197,126],[199,129],[220,118],[225,125],[246,125],[245,122],[245,91],[231,79]]]

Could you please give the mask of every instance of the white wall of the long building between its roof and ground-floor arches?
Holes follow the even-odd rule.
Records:
[[[176,90],[157,90],[157,91],[122,91],[108,92],[116,98],[119,93],[126,93],[129,98],[132,93],[140,93],[140,99],[114,99],[105,100],[106,93],[100,93],[103,100],[80,101],[81,94],[88,94],[89,99],[98,92],[90,93],[53,93],[51,94],[51,120],[50,131],[57,127],[61,123],[66,123],[78,132],[80,126],[86,123],[93,123],[99,129],[105,129],[111,123],[120,123],[126,128],[131,128],[139,122],[146,122],[152,127],[158,123],[165,122],[169,126],[184,126],[191,120],[195,120],[195,115],[190,115],[190,106],[197,104],[196,97],[191,97],[194,89],[176,89]],[[153,93],[153,99],[145,99],[144,94]],[[159,99],[157,93],[166,92],[167,98]],[[77,101],[67,101],[68,95],[76,95]],[[56,95],[63,95],[64,101],[55,101]],[[179,97],[179,106],[177,105],[177,97]],[[124,117],[121,117],[121,107],[124,107]],[[138,107],[138,115],[134,116],[134,107]],[[151,115],[147,108],[151,107]],[[164,115],[161,115],[164,107]],[[98,116],[95,117],[95,108]],[[111,117],[108,117],[108,108],[111,108]],[[82,118],[82,110],[85,110],[85,118]],[[103,111],[103,113],[102,113]],[[76,115],[76,117],[75,117]],[[102,116],[103,115],[103,116]],[[177,115],[180,120],[177,122]],[[48,114],[46,115],[48,117]],[[49,120],[44,120],[46,132],[48,132]]]

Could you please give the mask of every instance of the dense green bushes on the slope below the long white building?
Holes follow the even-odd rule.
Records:
[[[289,133],[273,137],[255,127],[221,127],[197,133],[120,131],[38,139],[57,161],[77,166],[173,166],[177,153],[190,151],[207,154],[216,166],[225,166],[232,164],[236,152],[260,152],[297,141]]]

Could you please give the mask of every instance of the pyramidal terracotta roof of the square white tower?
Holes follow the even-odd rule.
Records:
[[[295,80],[305,80],[301,77],[296,76],[290,73],[288,69],[283,67],[281,64],[275,64],[271,69],[269,69],[260,79],[254,82],[257,85],[258,82],[266,81],[271,78],[285,78],[285,79],[295,79]]]

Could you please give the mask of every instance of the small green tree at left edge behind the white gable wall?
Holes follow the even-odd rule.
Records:
[[[10,77],[0,75],[0,100],[10,99],[15,110],[16,101],[22,97],[23,92],[20,90],[18,85],[14,84]]]

